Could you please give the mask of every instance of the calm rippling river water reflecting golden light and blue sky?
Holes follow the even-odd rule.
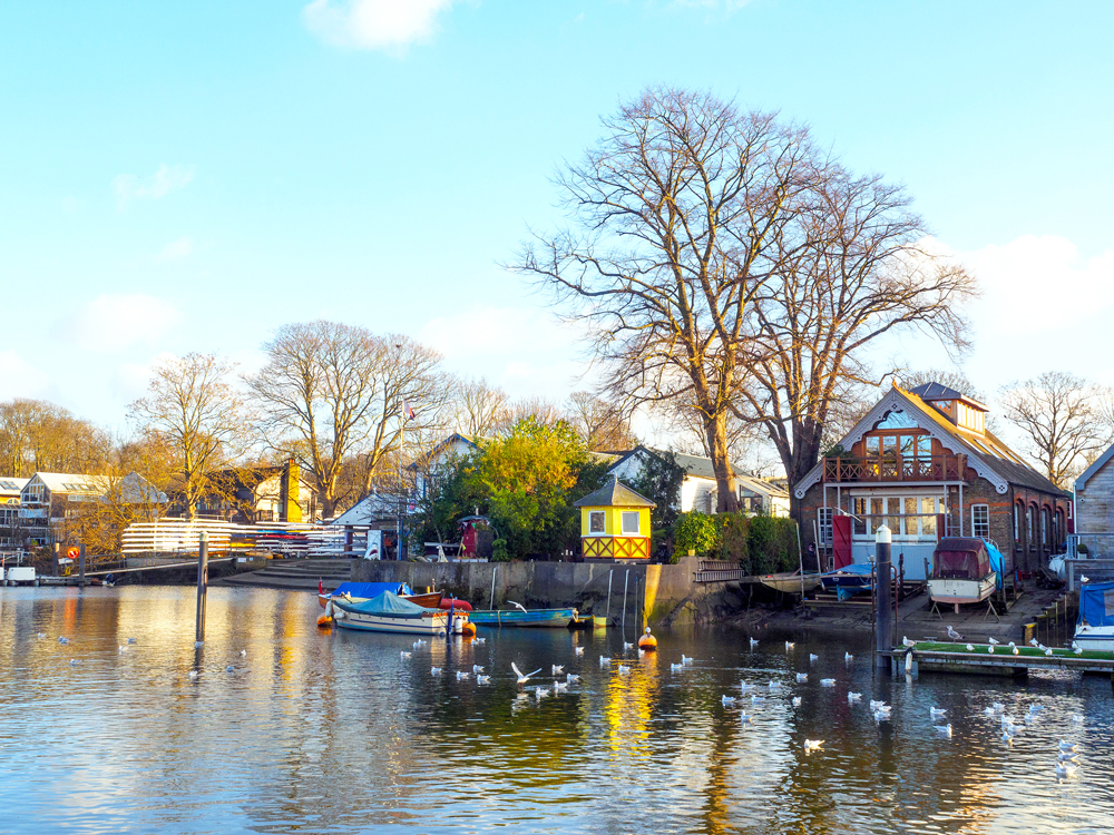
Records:
[[[625,676],[598,661],[631,656],[616,630],[487,629],[481,646],[433,642],[402,659],[413,638],[319,631],[319,613],[307,593],[214,589],[195,650],[189,589],[0,590],[0,832],[1114,827],[1108,680],[890,680],[862,642],[801,635],[786,654],[785,636],[761,635],[751,652],[733,631],[663,632]],[[696,660],[672,672],[682,652]],[[538,703],[511,661],[583,679]],[[457,680],[473,664],[490,684]],[[721,705],[740,681],[771,679],[780,694],[745,704],[753,726]],[[849,689],[863,704],[849,706]],[[870,698],[893,705],[891,723],[876,726]],[[1046,709],[1006,747],[983,716],[993,701],[1018,721],[1030,704]],[[948,709],[951,739],[930,706]],[[805,738],[823,748],[805,756]],[[1081,749],[1066,782],[1061,738]]]

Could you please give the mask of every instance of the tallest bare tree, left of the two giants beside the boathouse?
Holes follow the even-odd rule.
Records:
[[[612,396],[694,406],[719,510],[735,510],[726,416],[746,307],[779,268],[815,151],[802,128],[680,89],[646,90],[603,127],[557,175],[573,227],[512,266],[596,328]]]

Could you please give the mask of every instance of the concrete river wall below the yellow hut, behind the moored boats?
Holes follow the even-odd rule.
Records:
[[[610,574],[610,616],[623,616],[623,589],[626,583],[627,625],[635,619],[635,596],[641,593],[641,610],[649,626],[709,623],[742,608],[737,589],[724,583],[694,583],[694,558],[683,558],[675,566],[647,566],[592,562],[391,562],[361,560],[352,572],[356,582],[408,582],[412,588],[433,586],[467,600],[477,609],[487,609],[492,599],[496,609],[514,600],[528,609],[575,606],[582,615],[608,612]]]

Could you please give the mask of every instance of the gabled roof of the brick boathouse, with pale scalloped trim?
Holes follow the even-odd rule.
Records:
[[[978,433],[957,426],[935,406],[898,385],[887,392],[867,416],[840,440],[841,445],[844,449],[850,449],[876,423],[881,421],[887,412],[896,410],[909,410],[911,415],[918,419],[921,428],[928,430],[945,446],[954,452],[966,454],[968,464],[978,475],[994,484],[999,494],[1005,493],[1009,485],[1014,484],[1039,490],[1044,493],[1069,497],[1068,493],[1053,484],[1016,452],[1006,446],[991,432]],[[793,487],[797,498],[803,499],[804,492],[820,481],[822,472],[823,461],[820,461]]]

